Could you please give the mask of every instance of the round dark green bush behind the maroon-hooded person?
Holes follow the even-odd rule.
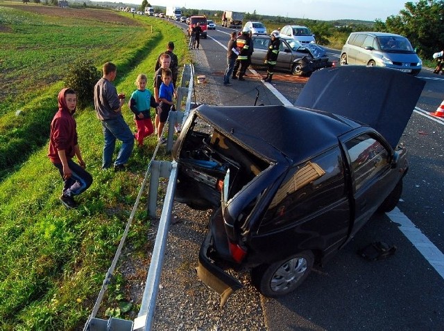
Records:
[[[77,107],[86,108],[92,104],[94,85],[101,78],[101,73],[91,60],[78,60],[69,66],[65,86],[77,93]]]

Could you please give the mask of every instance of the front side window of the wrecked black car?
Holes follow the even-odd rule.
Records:
[[[390,168],[391,153],[369,134],[352,138],[345,146],[350,156],[356,190]]]

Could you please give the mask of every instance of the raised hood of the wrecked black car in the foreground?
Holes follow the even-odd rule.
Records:
[[[366,123],[395,148],[424,85],[423,80],[395,69],[339,66],[311,75],[295,106]]]

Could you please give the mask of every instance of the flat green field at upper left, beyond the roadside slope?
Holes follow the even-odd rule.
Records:
[[[121,77],[155,47],[162,48],[162,34],[169,35],[168,29],[173,28],[149,17],[137,17],[133,25],[112,26],[108,21],[96,24],[87,19],[62,19],[4,8],[0,10],[0,23],[13,32],[0,33],[6,39],[0,44],[5,67],[0,82],[0,180],[46,143],[47,123],[57,109],[56,96],[63,84],[60,80],[66,77],[69,63],[85,57],[101,68],[104,62],[112,61],[119,66]],[[169,36],[175,35],[182,36]]]

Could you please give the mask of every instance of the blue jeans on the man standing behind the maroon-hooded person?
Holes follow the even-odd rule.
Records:
[[[126,124],[123,116],[117,116],[110,120],[102,120],[103,138],[105,145],[103,146],[102,168],[110,168],[112,163],[112,154],[116,147],[116,139],[122,142],[117,155],[114,166],[122,165],[128,162],[134,147],[134,136],[130,127]]]

